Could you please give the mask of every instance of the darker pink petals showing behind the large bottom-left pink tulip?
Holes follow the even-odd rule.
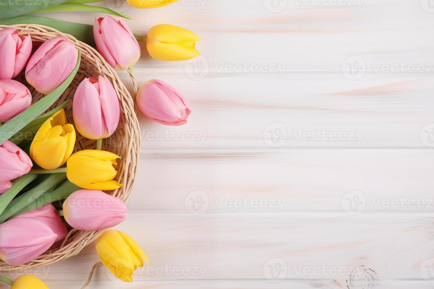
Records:
[[[68,234],[68,229],[57,214],[56,208],[51,204],[20,214],[15,218],[33,218],[42,221],[57,235],[55,242],[65,239]]]

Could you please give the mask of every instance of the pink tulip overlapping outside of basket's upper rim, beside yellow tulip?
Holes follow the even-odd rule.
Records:
[[[93,37],[98,52],[113,68],[127,69],[140,58],[140,46],[127,23],[112,16],[95,18]]]

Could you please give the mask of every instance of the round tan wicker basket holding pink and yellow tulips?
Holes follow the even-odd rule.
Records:
[[[76,48],[81,51],[81,63],[77,75],[66,91],[59,98],[59,100],[53,105],[53,107],[56,107],[58,103],[62,103],[67,99],[70,100],[65,107],[65,113],[69,123],[74,123],[72,119],[72,100],[77,86],[84,78],[91,76],[98,78],[99,75],[102,75],[113,84],[113,87],[115,88],[119,98],[121,117],[119,119],[119,125],[115,133],[113,133],[113,135],[108,139],[102,141],[102,149],[122,157],[118,166],[118,175],[116,180],[123,186],[122,188],[114,191],[107,191],[107,193],[121,198],[122,201],[125,202],[132,191],[135,174],[137,171],[141,137],[138,120],[135,114],[134,101],[128,90],[125,88],[125,85],[119,80],[115,70],[107,62],[105,62],[104,58],[99,55],[95,49],[83,42],[78,41],[69,34],[64,34],[47,26],[35,24],[18,24],[13,26],[0,25],[0,29],[5,27],[13,27],[20,31],[20,34],[30,34],[33,42],[33,51],[36,50],[36,48],[38,48],[42,42],[59,35],[69,39],[69,41],[74,43]],[[22,72],[21,75],[18,75],[16,79],[26,84],[24,72]],[[133,84],[135,85],[133,76],[132,79]],[[27,85],[27,87],[32,93],[33,103],[44,96],[43,94],[37,92],[30,85]],[[77,131],[76,133],[77,142],[74,152],[82,149],[95,149],[95,140],[86,139]],[[0,271],[23,270],[26,268],[46,266],[56,263],[60,260],[65,260],[78,254],[87,244],[95,240],[101,233],[102,231],[80,231],[72,229],[69,231],[64,240],[53,244],[53,246],[41,256],[26,264],[21,266],[11,266],[0,260]]]

